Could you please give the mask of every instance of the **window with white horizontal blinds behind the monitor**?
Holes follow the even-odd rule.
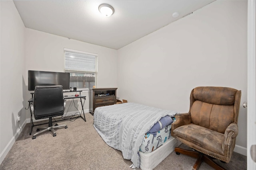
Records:
[[[98,54],[64,48],[65,72],[70,73],[70,87],[97,87]]]

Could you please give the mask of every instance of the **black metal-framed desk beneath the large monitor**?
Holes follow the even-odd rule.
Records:
[[[67,99],[78,99],[78,98],[80,98],[80,102],[81,102],[81,106],[82,106],[81,114],[79,116],[75,116],[75,117],[71,117],[71,118],[66,118],[66,119],[62,119],[62,120],[58,120],[58,121],[63,121],[63,120],[68,120],[68,119],[75,119],[77,117],[81,117],[84,121],[86,121],[85,115],[84,115],[84,117],[82,117],[82,112],[84,114],[84,104],[82,103],[82,100],[81,100],[81,99],[86,100],[86,96],[81,96],[81,95],[79,95],[79,96],[74,96],[74,95],[64,96],[64,100],[67,100]],[[34,122],[33,122],[33,119],[32,119],[32,111],[31,111],[30,105],[33,103],[33,98],[30,98],[28,100],[28,103],[29,103],[28,107],[30,109],[30,133],[29,133],[29,135],[31,135],[33,127],[34,126],[38,126],[38,125],[34,125]],[[57,121],[52,121],[52,122],[57,122]],[[39,124],[39,125],[43,125],[43,124],[46,124],[46,123],[42,123],[42,124]]]

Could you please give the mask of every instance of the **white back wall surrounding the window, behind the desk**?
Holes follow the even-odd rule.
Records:
[[[117,87],[116,50],[26,28],[26,89],[28,70],[64,72],[64,48],[98,54],[98,88]],[[88,91],[82,94],[87,97],[84,110],[88,112]],[[31,95],[27,90],[26,100],[29,98]],[[66,106],[69,104],[70,102],[67,102]],[[75,111],[75,108],[70,111]],[[27,118],[30,118],[29,111]]]

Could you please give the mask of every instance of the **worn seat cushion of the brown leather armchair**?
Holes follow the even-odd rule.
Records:
[[[194,149],[210,153],[224,155],[222,144],[225,141],[223,133],[212,131],[193,123],[177,127],[173,133],[178,139]],[[208,153],[209,153],[208,152]]]

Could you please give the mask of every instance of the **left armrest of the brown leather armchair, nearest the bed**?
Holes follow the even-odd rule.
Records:
[[[191,123],[190,113],[178,113],[175,115],[176,121],[172,123],[172,131],[177,127]]]

